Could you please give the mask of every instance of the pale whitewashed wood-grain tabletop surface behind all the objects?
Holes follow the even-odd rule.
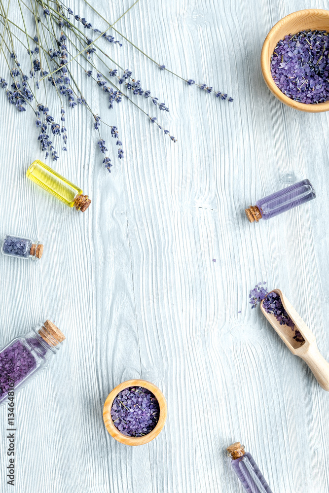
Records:
[[[93,4],[111,20],[130,5]],[[81,1],[70,6],[96,25]],[[259,281],[282,289],[328,359],[329,116],[282,105],[260,69],[278,20],[326,7],[141,0],[117,28],[234,103],[188,87],[125,43],[110,47],[168,104],[170,113],[157,115],[138,100],[178,142],[129,102],[107,113],[105,95],[75,73],[94,111],[118,126],[125,150],[109,175],[89,115],[67,111],[68,152],[54,167],[89,194],[85,213],[26,180],[28,165],[44,156],[31,113],[17,114],[1,91],[1,234],[39,239],[44,253],[39,265],[0,255],[0,344],[46,318],[66,336],[16,397],[17,493],[242,492],[225,456],[238,440],[273,492],[328,491],[328,393],[248,298]],[[291,169],[310,179],[317,199],[250,224],[244,209],[280,188]],[[168,419],[155,440],[127,447],[110,437],[102,409],[113,387],[138,378],[162,390]],[[0,423],[6,492],[4,406]]]

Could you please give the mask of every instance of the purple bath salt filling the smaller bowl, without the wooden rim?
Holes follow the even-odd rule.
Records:
[[[145,387],[128,387],[113,400],[111,418],[114,426],[127,436],[147,435],[159,421],[156,397]]]

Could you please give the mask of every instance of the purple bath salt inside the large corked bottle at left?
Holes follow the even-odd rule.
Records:
[[[31,351],[18,339],[0,352],[0,400],[9,389],[8,378],[17,386],[37,366]]]

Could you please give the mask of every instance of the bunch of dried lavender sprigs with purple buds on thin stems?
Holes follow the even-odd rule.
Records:
[[[213,88],[206,84],[195,84],[193,79],[183,78],[181,75],[166,69],[165,65],[155,62],[114,28],[114,24],[139,0],[136,0],[112,24],[102,17],[90,3],[86,0],[83,1],[88,8],[97,14],[100,22],[106,23],[106,30],[93,27],[85,17],[81,17],[79,13],[74,13],[61,0],[18,0],[22,19],[22,25],[19,26],[8,16],[10,0],[8,0],[6,9],[3,1],[0,0],[0,24],[3,27],[0,52],[2,51],[11,78],[11,84],[8,84],[5,78],[0,77],[0,86],[5,90],[8,102],[14,105],[18,111],[25,111],[28,106],[34,111],[35,124],[39,131],[37,139],[41,149],[45,151],[46,158],[51,155],[53,160],[58,159],[57,151],[51,140],[53,137],[50,138],[51,135],[62,135],[62,150],[67,150],[65,101],[72,109],[77,105],[83,105],[90,112],[93,127],[98,133],[97,144],[100,151],[105,155],[103,164],[109,171],[112,163],[108,156],[106,141],[101,135],[101,131],[102,133],[105,131],[104,125],[109,127],[110,136],[115,139],[117,157],[123,158],[122,142],[117,127],[104,122],[101,116],[95,113],[88,104],[73,77],[72,64],[83,70],[87,77],[92,80],[92,83],[106,94],[109,109],[124,99],[142,111],[149,121],[155,123],[172,141],[177,141],[169,130],[157,122],[156,116],[150,116],[134,99],[135,97],[145,98],[150,101],[152,107],[155,106],[159,111],[168,112],[168,106],[165,103],[159,103],[159,99],[153,95],[152,91],[144,89],[142,82],[133,75],[131,70],[121,67],[112,59],[104,51],[106,48],[103,49],[102,43],[122,46],[122,42],[125,40],[155,63],[160,70],[167,70],[185,81],[189,86],[196,85],[208,94],[213,92],[221,100],[227,98],[225,93],[213,91]],[[33,20],[35,27],[33,35],[28,32],[25,22],[26,15],[29,15]],[[115,39],[113,35],[108,33],[108,30],[113,30],[122,40]],[[27,71],[23,71],[18,61],[15,43],[27,49],[30,61],[30,68]],[[48,87],[56,91],[60,100],[61,123],[57,123],[49,113],[50,110],[46,104]],[[228,101],[232,102],[233,99],[228,98]]]

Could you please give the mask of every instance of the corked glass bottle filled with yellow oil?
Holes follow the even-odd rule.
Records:
[[[90,206],[91,200],[88,195],[83,195],[81,188],[39,160],[31,164],[26,176],[67,206],[74,206],[77,211],[84,212]]]

